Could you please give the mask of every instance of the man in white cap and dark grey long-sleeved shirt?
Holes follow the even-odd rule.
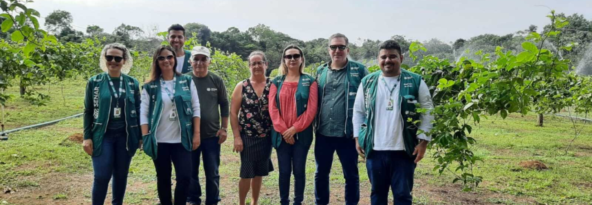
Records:
[[[220,144],[226,141],[228,128],[229,102],[226,87],[220,76],[208,72],[210,50],[196,46],[191,50],[191,66],[193,83],[197,87],[197,95],[201,105],[201,146],[192,153],[191,183],[187,202],[201,204],[201,186],[199,185],[199,155],[204,156],[206,172],[206,205],[220,202]],[[222,121],[220,122],[220,118]],[[220,124],[222,125],[220,127]]]

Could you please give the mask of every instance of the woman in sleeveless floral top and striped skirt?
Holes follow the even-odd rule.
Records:
[[[230,125],[234,135],[233,151],[241,153],[239,204],[245,204],[253,188],[251,205],[259,201],[263,176],[274,171],[272,164],[272,120],[267,102],[271,80],[265,77],[267,58],[260,51],[249,55],[251,76],[234,87],[230,102]]]

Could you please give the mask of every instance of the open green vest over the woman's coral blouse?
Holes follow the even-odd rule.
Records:
[[[283,81],[285,80],[286,76],[277,76],[276,78],[274,78],[274,80],[272,80],[272,83],[278,88],[277,94],[276,94],[276,105],[278,107],[278,110],[280,111],[280,115],[282,113],[281,107],[280,107],[280,92],[281,92],[281,88],[283,85]],[[297,116],[300,116],[302,114],[305,113],[306,109],[307,109],[307,104],[308,104],[308,98],[309,98],[309,91],[310,91],[310,86],[312,85],[312,83],[314,83],[314,78],[310,75],[307,74],[300,74],[300,79],[298,80],[298,89],[296,89],[296,114]],[[306,147],[310,147],[310,145],[312,144],[312,123],[311,125],[309,125],[307,127],[307,129],[296,133],[296,143],[300,143],[305,145]],[[283,138],[282,138],[282,133],[278,133],[275,129],[273,129],[272,127],[272,146],[276,149],[278,149],[280,147],[280,144],[282,142]]]

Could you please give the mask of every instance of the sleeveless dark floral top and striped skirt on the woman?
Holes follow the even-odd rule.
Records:
[[[241,178],[269,175],[272,164],[272,118],[269,102],[271,80],[267,78],[263,94],[257,96],[249,79],[243,80],[239,126],[243,151],[241,151]]]

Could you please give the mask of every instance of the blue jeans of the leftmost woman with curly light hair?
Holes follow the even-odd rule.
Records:
[[[113,205],[123,204],[125,188],[127,186],[127,173],[131,156],[126,149],[127,138],[125,129],[107,131],[102,139],[102,152],[92,157],[94,169],[94,182],[92,188],[92,204],[104,204],[111,182]]]

